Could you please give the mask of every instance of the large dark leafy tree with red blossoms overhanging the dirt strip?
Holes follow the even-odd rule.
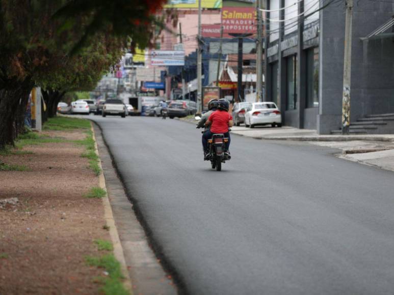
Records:
[[[34,85],[64,92],[95,84],[125,36],[149,45],[164,1],[0,0],[0,148],[22,128]]]

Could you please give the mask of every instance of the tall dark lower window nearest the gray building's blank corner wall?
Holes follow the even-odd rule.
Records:
[[[319,106],[319,47],[306,52],[306,107]]]

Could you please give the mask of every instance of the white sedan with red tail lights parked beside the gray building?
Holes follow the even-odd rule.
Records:
[[[254,102],[245,113],[245,126],[254,128],[256,125],[282,127],[280,111],[273,102]]]

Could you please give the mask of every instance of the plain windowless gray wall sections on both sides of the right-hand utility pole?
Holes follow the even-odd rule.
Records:
[[[394,43],[366,37],[393,14],[394,3],[354,3],[351,73],[351,122],[366,114],[394,112]],[[340,128],[342,115],[345,7],[328,6],[320,25],[320,110],[318,131]]]

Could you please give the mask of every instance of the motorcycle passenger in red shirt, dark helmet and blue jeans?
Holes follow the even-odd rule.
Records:
[[[204,149],[204,160],[208,160],[208,139],[212,138],[213,134],[222,133],[224,137],[228,137],[226,142],[224,154],[229,157],[230,152],[228,151],[230,147],[230,133],[228,128],[232,127],[232,115],[228,113],[229,103],[225,99],[220,99],[218,101],[218,110],[214,111],[209,115],[208,120],[205,122],[205,126],[210,126],[210,129],[204,132],[202,135],[202,146]]]

